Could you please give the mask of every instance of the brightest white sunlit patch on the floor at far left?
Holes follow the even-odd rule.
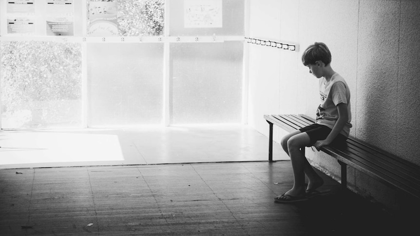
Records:
[[[124,160],[118,136],[109,134],[17,131],[1,146],[0,165]]]

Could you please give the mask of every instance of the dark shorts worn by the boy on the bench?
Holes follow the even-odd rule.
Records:
[[[306,127],[299,129],[302,133],[306,132],[309,135],[310,145],[312,146],[318,140],[324,140],[331,132],[331,129],[327,126],[319,125],[319,124],[312,124]],[[338,134],[331,145],[345,145],[345,137],[343,134]]]

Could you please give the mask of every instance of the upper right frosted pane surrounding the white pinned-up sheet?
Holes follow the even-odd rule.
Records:
[[[200,2],[200,1],[197,1]],[[185,27],[184,0],[171,0],[170,32],[172,36],[243,36],[244,33],[244,0],[223,0],[222,1],[222,27]]]

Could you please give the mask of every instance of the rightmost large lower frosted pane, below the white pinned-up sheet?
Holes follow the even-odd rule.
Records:
[[[171,124],[240,123],[242,42],[171,45]]]

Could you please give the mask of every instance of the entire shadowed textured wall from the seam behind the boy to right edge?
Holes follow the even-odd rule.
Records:
[[[419,158],[419,1],[361,1],[356,136]]]

